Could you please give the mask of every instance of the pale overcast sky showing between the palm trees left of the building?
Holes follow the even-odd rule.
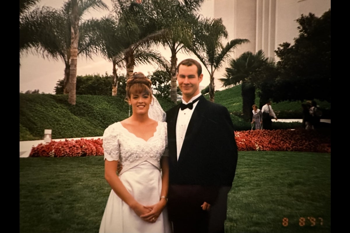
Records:
[[[50,6],[54,8],[61,8],[65,1],[64,0],[40,0],[38,5],[40,6]],[[110,0],[104,0],[104,2],[111,7]],[[202,5],[201,14],[206,17],[213,17],[213,0],[206,0]],[[98,12],[92,10],[90,14],[87,14],[84,18],[99,18],[107,15],[108,11]],[[163,56],[170,61],[170,52],[159,48]],[[186,54],[178,53],[178,62],[188,58]],[[196,59],[195,56],[192,58]],[[196,59],[197,60],[197,59]],[[27,90],[39,89],[42,93],[54,94],[54,87],[58,80],[64,78],[64,62],[62,60],[48,60],[47,58],[42,58],[40,55],[25,54],[20,57],[20,92],[26,92]],[[77,61],[77,75],[86,74],[112,74],[112,63],[103,59],[102,57],[93,57],[93,59],[86,60],[83,57],[78,57]],[[152,73],[157,67],[144,65],[135,67],[134,71],[143,72],[145,75],[148,72]],[[203,67],[204,68],[204,67]],[[126,70],[118,69],[118,73],[125,74]],[[204,72],[204,77],[201,86],[209,85],[209,74]]]

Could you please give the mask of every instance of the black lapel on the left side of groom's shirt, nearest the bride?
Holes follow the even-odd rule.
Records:
[[[177,163],[177,146],[176,146],[176,122],[179,115],[180,104],[177,105],[173,112],[173,116],[170,116],[168,121],[168,147],[169,147],[169,159],[173,164]]]

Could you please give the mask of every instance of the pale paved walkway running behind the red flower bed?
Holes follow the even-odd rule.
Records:
[[[273,121],[275,122],[275,121]],[[302,119],[278,119],[278,122],[302,122]],[[321,119],[321,122],[327,122],[330,123],[330,119]],[[102,136],[99,137],[88,137],[85,139],[98,139],[102,138]],[[70,139],[80,139],[80,138],[67,138]],[[65,139],[52,139],[52,141],[64,141]],[[33,140],[33,141],[20,141],[20,158],[27,158],[29,157],[31,148],[33,146],[37,146],[40,143],[44,143],[44,140]]]

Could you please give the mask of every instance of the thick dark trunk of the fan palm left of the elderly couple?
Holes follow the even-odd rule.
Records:
[[[253,118],[252,105],[255,103],[255,87],[251,83],[242,82],[243,116],[246,121]]]

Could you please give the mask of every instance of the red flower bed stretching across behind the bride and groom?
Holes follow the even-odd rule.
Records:
[[[330,153],[330,130],[236,131],[238,151],[301,151]],[[73,157],[103,155],[102,139],[51,141],[31,149],[29,156]]]

